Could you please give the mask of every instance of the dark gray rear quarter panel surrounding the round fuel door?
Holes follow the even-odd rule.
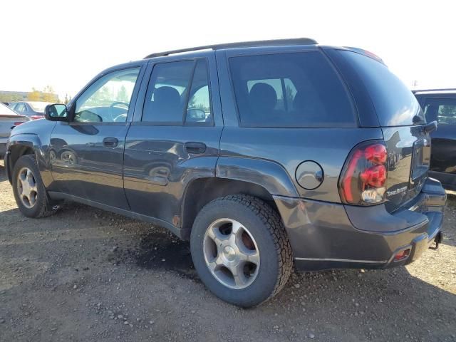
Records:
[[[294,185],[277,188],[290,197],[305,197],[327,202],[341,202],[338,178],[348,153],[359,142],[382,139],[379,128],[225,128],[220,143],[220,155],[253,160],[268,160],[279,165]],[[230,158],[235,163],[235,158]],[[315,190],[305,190],[296,182],[296,168],[305,160],[318,162],[324,179]],[[259,165],[261,167],[261,165]],[[219,167],[217,167],[219,170]],[[232,171],[230,177],[234,177]],[[219,176],[217,174],[217,176]],[[263,182],[268,178],[263,177]],[[265,186],[266,187],[266,186]],[[269,186],[266,189],[271,188]],[[269,189],[268,189],[269,190]]]

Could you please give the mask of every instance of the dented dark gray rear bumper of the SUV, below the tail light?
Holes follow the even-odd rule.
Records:
[[[420,195],[392,214],[383,204],[353,207],[274,197],[289,234],[296,269],[383,269],[409,264],[440,238],[446,194],[428,179]],[[397,252],[408,257],[394,261]]]

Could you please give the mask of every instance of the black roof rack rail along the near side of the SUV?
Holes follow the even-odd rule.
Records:
[[[180,48],[178,50],[170,50],[164,52],[150,53],[144,59],[152,57],[168,56],[173,53],[182,53],[198,50],[219,50],[221,48],[253,48],[258,46],[279,46],[279,45],[314,45],[318,44],[311,38],[291,38],[291,39],[273,39],[269,41],[241,41],[239,43],[224,43],[215,45],[197,46],[195,48]]]

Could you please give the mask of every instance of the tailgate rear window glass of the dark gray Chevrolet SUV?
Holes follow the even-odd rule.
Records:
[[[413,125],[424,120],[413,93],[383,63],[352,51],[339,51],[353,66],[368,90],[380,126]]]

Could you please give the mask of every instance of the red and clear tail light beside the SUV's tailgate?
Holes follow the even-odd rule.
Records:
[[[348,155],[339,182],[343,202],[361,205],[383,202],[387,159],[388,150],[382,141],[357,145]]]

